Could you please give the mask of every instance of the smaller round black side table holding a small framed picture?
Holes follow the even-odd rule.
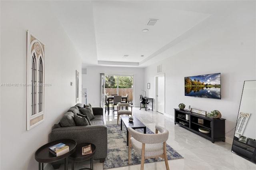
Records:
[[[91,144],[92,153],[87,155],[82,155],[82,147]],[[83,162],[90,159],[90,168],[82,168],[80,170],[93,170],[93,155],[96,152],[96,146],[92,143],[82,143],[76,146],[76,151],[69,156],[69,160],[72,162],[72,170],[74,170],[74,162]]]

